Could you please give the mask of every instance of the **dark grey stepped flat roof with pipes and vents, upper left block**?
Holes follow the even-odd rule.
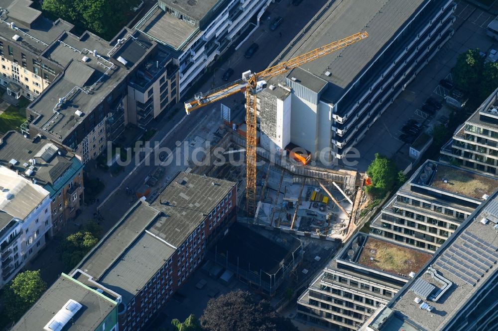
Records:
[[[125,79],[128,68],[107,55],[113,48],[109,42],[90,32],[81,37],[64,33],[58,40],[43,56],[68,67],[29,109],[39,114],[31,125],[63,140]],[[94,50],[97,57],[93,56]],[[63,103],[56,107],[64,97]],[[77,110],[80,115],[75,113]]]

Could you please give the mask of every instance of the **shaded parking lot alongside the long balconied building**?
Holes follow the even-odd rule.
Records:
[[[451,109],[443,106],[434,116],[421,111],[428,97],[443,101],[448,89],[439,85],[442,79],[451,81],[450,71],[455,66],[457,56],[469,48],[479,48],[487,52],[494,41],[486,35],[486,27],[494,16],[460,0],[455,10],[455,34],[441,48],[436,56],[418,74],[415,80],[394,100],[384,114],[373,124],[367,135],[356,146],[361,158],[358,170],[366,171],[375,153],[389,158],[409,162],[409,144],[403,143],[399,136],[401,128],[409,119],[423,123],[429,132],[436,124],[444,123]],[[498,46],[497,46],[498,47]]]

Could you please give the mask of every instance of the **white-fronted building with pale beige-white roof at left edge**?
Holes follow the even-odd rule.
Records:
[[[0,166],[0,184],[2,288],[45,246],[52,219],[46,189],[5,166]]]

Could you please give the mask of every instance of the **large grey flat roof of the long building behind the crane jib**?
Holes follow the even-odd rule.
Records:
[[[427,0],[335,1],[329,8],[324,6],[326,12],[276,59],[284,54],[282,61],[286,61],[366,30],[369,38],[301,66],[329,83],[322,97],[336,103],[424,2]],[[330,77],[325,75],[327,71],[332,73]],[[290,79],[291,74],[286,77]],[[302,78],[302,84],[315,86],[316,78]]]

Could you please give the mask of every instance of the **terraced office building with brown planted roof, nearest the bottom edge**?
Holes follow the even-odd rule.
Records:
[[[358,330],[430,257],[357,233],[299,297],[298,317],[322,328]]]

